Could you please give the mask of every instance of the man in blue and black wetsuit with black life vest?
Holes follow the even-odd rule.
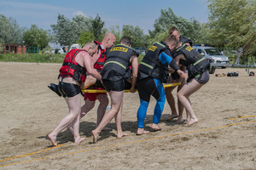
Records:
[[[151,128],[160,130],[158,123],[166,102],[165,89],[162,82],[168,82],[170,65],[178,75],[184,77],[184,72],[172,59],[171,50],[173,44],[169,37],[165,42],[156,42],[148,48],[147,54],[144,56],[138,67],[137,89],[140,97],[140,107],[137,111],[137,134],[149,133],[144,130],[144,120],[148,110],[150,95],[156,99],[154,107],[154,118]]]

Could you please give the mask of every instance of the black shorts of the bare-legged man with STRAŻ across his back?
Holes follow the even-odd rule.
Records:
[[[106,90],[108,90],[108,92],[110,91],[124,91],[125,89],[130,89],[131,88],[131,83],[125,81],[125,78],[122,78],[119,81],[110,81],[110,80],[102,80],[104,87],[106,88]]]

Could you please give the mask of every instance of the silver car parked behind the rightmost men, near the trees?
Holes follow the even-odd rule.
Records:
[[[193,46],[201,55],[207,59],[213,59],[214,64],[223,64],[222,68],[226,68],[225,65],[230,64],[230,60],[227,56],[221,54],[218,49],[207,46]]]

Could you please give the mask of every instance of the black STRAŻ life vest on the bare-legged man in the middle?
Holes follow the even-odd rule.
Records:
[[[107,60],[102,68],[102,79],[118,81],[121,78],[130,78],[130,59],[133,54],[139,55],[134,49],[123,44],[108,48]]]

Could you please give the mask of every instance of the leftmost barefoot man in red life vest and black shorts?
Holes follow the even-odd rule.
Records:
[[[86,75],[95,77],[102,82],[102,76],[92,67],[91,56],[96,54],[97,45],[95,42],[88,42],[82,49],[73,49],[67,53],[59,75],[59,92],[66,99],[69,114],[49,133],[48,137],[53,145],[57,145],[58,133],[67,127],[71,122],[73,126],[74,142],[80,143],[85,138],[79,136],[79,115],[80,115],[80,86],[85,81]]]

